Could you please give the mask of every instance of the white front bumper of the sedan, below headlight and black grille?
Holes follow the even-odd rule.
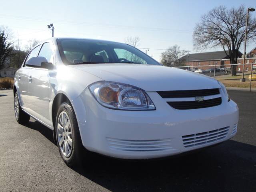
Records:
[[[98,104],[86,88],[73,100],[84,147],[124,159],[148,159],[214,145],[236,134],[238,107],[176,110],[156,92],[147,92],[154,111],[112,110]]]

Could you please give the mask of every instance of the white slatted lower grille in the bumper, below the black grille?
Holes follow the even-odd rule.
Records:
[[[200,146],[208,143],[212,143],[218,140],[223,140],[228,134],[229,126],[192,135],[182,136],[184,147]]]

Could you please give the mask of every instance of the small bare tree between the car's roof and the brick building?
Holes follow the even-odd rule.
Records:
[[[182,66],[186,51],[180,50],[180,46],[174,45],[161,54],[161,63],[164,66]]]

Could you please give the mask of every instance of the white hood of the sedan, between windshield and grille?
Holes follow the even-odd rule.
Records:
[[[130,84],[146,91],[196,90],[220,88],[208,76],[177,68],[146,64],[79,64],[72,68],[93,74],[102,80]]]

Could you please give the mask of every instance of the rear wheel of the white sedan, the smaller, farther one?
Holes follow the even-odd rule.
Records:
[[[30,120],[30,116],[24,112],[20,106],[18,92],[14,94],[14,116],[19,124],[26,124]]]

